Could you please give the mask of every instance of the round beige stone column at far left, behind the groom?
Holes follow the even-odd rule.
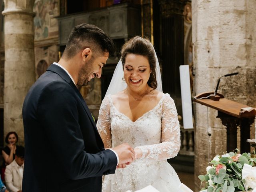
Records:
[[[4,0],[4,136],[16,131],[24,144],[22,104],[35,81],[34,0]]]

